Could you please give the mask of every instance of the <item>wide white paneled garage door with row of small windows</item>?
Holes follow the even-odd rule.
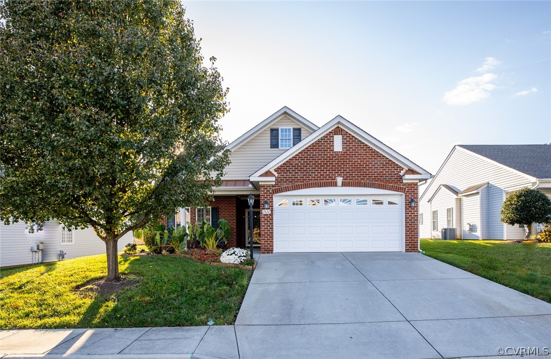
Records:
[[[403,217],[398,192],[347,187],[286,192],[274,196],[274,251],[403,251]]]

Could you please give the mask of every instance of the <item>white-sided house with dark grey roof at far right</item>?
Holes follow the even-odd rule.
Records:
[[[524,228],[500,215],[505,198],[523,187],[551,197],[551,144],[455,146],[419,199],[420,237],[456,228],[462,239],[523,239]]]

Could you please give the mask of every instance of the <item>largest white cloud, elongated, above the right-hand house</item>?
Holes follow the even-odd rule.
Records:
[[[482,76],[466,78],[457,84],[457,87],[444,94],[444,101],[451,106],[463,106],[484,100],[495,89],[491,82],[498,78],[494,73],[485,73]]]

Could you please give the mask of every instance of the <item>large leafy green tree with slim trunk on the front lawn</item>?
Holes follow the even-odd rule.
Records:
[[[0,2],[0,217],[117,240],[200,205],[228,162],[222,78],[176,0]]]

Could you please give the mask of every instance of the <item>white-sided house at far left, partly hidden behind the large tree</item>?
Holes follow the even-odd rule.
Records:
[[[23,222],[5,226],[0,223],[0,267],[32,264],[38,259],[31,247],[42,243],[42,262],[60,260],[60,251],[66,253],[65,259],[85,255],[105,254],[105,243],[94,233],[93,229],[67,231],[57,221],[47,221],[40,232],[29,233]],[[118,240],[118,250],[122,251],[127,243],[132,243],[132,232]]]

